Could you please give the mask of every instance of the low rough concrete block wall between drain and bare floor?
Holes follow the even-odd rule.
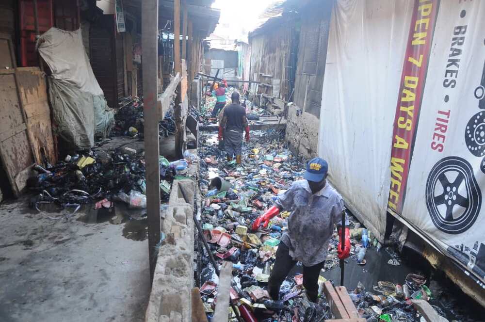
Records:
[[[185,202],[180,186],[189,203]],[[174,180],[162,223],[165,239],[158,251],[146,322],[191,322],[194,287],[194,198],[191,179]]]

